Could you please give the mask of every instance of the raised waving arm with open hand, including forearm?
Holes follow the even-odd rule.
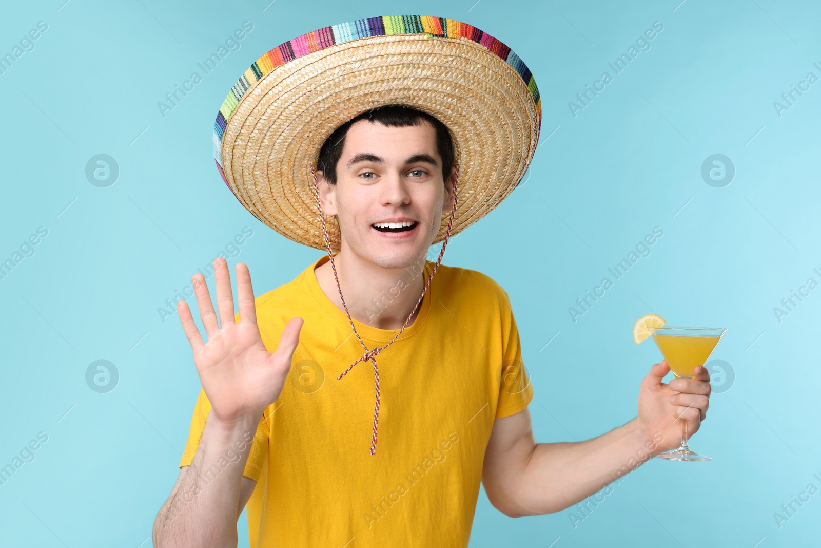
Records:
[[[219,316],[202,274],[192,278],[208,343],[187,303],[177,303],[211,410],[190,467],[181,469],[154,521],[157,548],[236,546],[236,520],[254,484],[242,472],[263,410],[282,392],[299,342],[302,320],[294,318],[282,331],[277,350],[268,352],[256,324],[254,291],[244,264],[236,265],[238,319],[225,260],[214,260],[214,279]]]

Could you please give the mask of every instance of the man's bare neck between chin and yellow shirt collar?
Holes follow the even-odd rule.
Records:
[[[400,329],[405,325],[427,281],[423,272],[424,256],[396,269],[383,269],[344,251],[337,253],[333,262],[351,318],[377,329]],[[325,296],[344,312],[331,261],[319,265],[314,274]],[[413,324],[421,307],[420,302],[408,325]]]

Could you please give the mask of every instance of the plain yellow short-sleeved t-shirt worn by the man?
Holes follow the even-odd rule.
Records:
[[[507,292],[475,270],[439,265],[420,311],[374,367],[314,268],[256,298],[269,351],[288,320],[305,320],[291,372],[266,408],[244,475],[250,548],[273,546],[468,546],[493,420],[533,398]],[[427,280],[433,263],[426,261]],[[385,291],[397,296],[404,283]],[[367,313],[367,312],[366,312]],[[369,317],[378,313],[378,303]],[[239,321],[239,315],[236,315]],[[399,329],[354,320],[368,348]],[[180,466],[190,465],[211,405],[202,389]]]

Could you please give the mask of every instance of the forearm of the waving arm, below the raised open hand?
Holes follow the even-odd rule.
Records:
[[[258,419],[209,416],[194,459],[154,521],[154,546],[236,546],[242,472]]]

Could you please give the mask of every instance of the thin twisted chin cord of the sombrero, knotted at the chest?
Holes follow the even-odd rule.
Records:
[[[354,368],[354,366],[359,363],[360,361],[370,360],[374,364],[374,385],[376,389],[376,403],[374,405],[374,433],[370,437],[370,454],[376,454],[376,430],[379,423],[379,368],[376,365],[376,357],[379,352],[382,352],[385,348],[391,346],[393,341],[399,338],[399,335],[402,334],[402,331],[408,325],[410,318],[413,317],[416,309],[419,307],[420,302],[422,302],[422,297],[424,297],[424,293],[428,291],[428,286],[430,285],[430,281],[433,279],[433,274],[436,274],[436,270],[439,268],[439,263],[442,262],[442,257],[445,255],[445,248],[447,247],[447,242],[451,237],[451,226],[453,223],[453,217],[456,215],[456,204],[459,201],[459,196],[456,194],[456,183],[459,182],[459,168],[456,167],[456,181],[453,182],[453,208],[451,210],[451,217],[450,220],[447,222],[447,229],[445,232],[445,239],[442,242],[442,249],[439,251],[438,259],[436,260],[436,264],[433,265],[433,270],[431,271],[430,275],[428,276],[428,281],[424,283],[424,288],[422,289],[422,294],[416,300],[416,304],[413,307],[413,310],[410,311],[407,320],[405,320],[405,324],[402,325],[401,329],[399,329],[399,333],[393,336],[393,338],[388,341],[383,347],[376,347],[373,349],[368,348],[368,345],[365,344],[365,341],[362,340],[360,334],[356,332],[356,326],[354,325],[354,320],[351,320],[351,312],[348,311],[348,306],[345,304],[345,297],[342,297],[342,287],[339,285],[339,277],[337,276],[337,267],[333,264],[333,253],[331,252],[331,243],[328,239],[328,231],[325,229],[325,216],[322,213],[322,205],[319,204],[319,186],[317,184],[317,177],[316,173],[314,173],[314,165],[311,164],[310,167],[311,178],[314,181],[314,200],[316,200],[316,209],[319,211],[319,218],[322,219],[322,232],[323,237],[325,239],[325,246],[328,249],[328,257],[331,259],[331,268],[333,269],[333,279],[337,281],[337,290],[339,291],[339,298],[342,299],[342,307],[345,308],[345,313],[348,316],[348,321],[351,323],[351,328],[354,330],[354,334],[356,338],[359,339],[362,348],[365,348],[365,353],[362,354],[362,357],[351,363],[345,371],[342,371],[342,375],[337,377],[337,380],[341,380],[342,377],[348,374],[348,371]]]

